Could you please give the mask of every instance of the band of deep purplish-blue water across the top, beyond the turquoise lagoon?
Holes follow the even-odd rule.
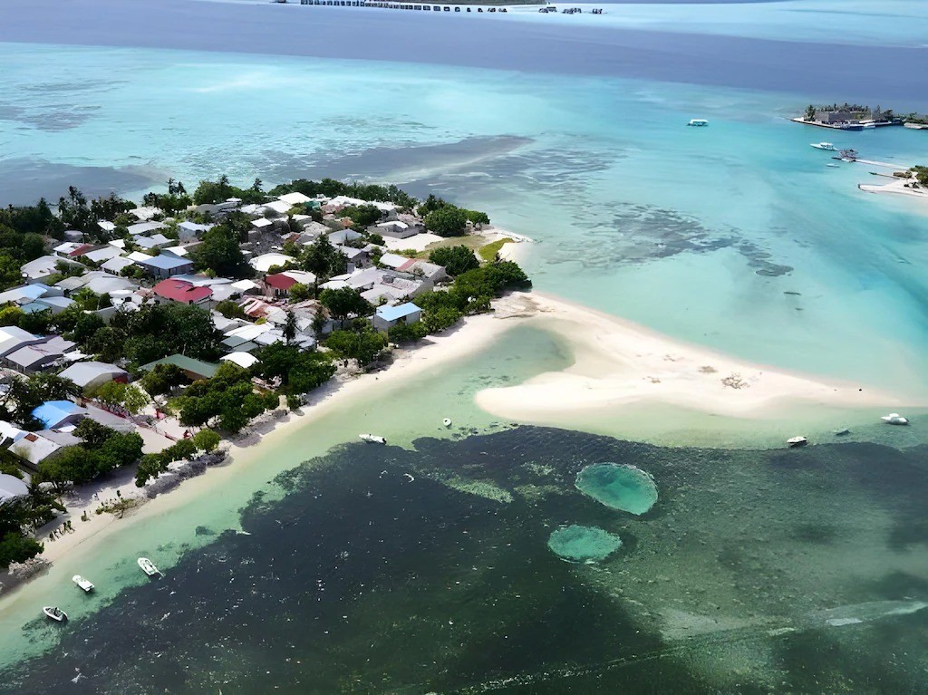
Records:
[[[928,48],[191,0],[7,0],[0,42],[180,48],[611,75],[923,109]],[[732,9],[732,12],[736,12]],[[485,21],[483,19],[486,19]],[[814,16],[808,19],[816,21]],[[861,21],[865,21],[862,18]],[[463,24],[468,21],[470,24]],[[472,22],[480,21],[479,25]],[[79,27],[79,31],[75,28]],[[248,31],[241,31],[248,27]]]

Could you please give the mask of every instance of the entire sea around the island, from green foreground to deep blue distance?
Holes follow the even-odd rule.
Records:
[[[901,0],[493,18],[9,0],[0,203],[224,173],[397,183],[534,238],[520,257],[539,290],[923,403],[928,215],[858,191],[872,168],[826,166],[809,143],[904,167],[925,161],[926,135],[787,119],[819,101],[928,110],[910,69],[928,58],[926,14]],[[655,447],[513,428],[472,403],[570,362],[514,331],[269,439],[260,466],[185,483],[200,496],[182,486],[0,600],[0,692],[926,688],[917,431]],[[391,445],[344,445],[358,431]],[[598,462],[650,473],[657,503],[633,517],[583,496],[575,474]],[[548,539],[572,524],[622,546],[561,560]],[[142,583],[142,553],[165,577]],[[75,600],[75,572],[97,597]],[[48,602],[70,624],[39,620]]]

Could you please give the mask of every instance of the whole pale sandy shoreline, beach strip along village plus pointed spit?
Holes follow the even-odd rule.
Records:
[[[460,328],[432,336],[418,347],[396,351],[390,367],[311,393],[310,405],[304,406],[303,412],[277,411],[281,412],[280,416],[256,422],[243,431],[238,440],[227,444],[226,461],[222,465],[210,467],[153,498],[146,496],[145,488],[135,488],[131,473],[125,480],[117,476],[83,488],[78,493],[78,504],[70,507],[69,515],[64,517],[72,520],[75,533],[52,542],[45,540],[45,551],[39,556],[42,568],[31,576],[6,582],[0,598],[19,594],[19,588],[53,571],[56,563],[92,551],[119,529],[144,523],[195,502],[200,495],[209,494],[219,483],[259,463],[269,447],[285,440],[292,431],[309,427],[333,411],[373,401],[392,387],[430,369],[478,353],[516,326],[540,328],[556,336],[568,346],[574,359],[563,371],[541,374],[515,386],[484,389],[476,394],[474,401],[483,411],[524,424],[599,431],[597,418],[602,414],[618,420],[625,418],[626,411],[669,406],[680,412],[696,411],[706,416],[730,418],[733,427],[753,432],[757,423],[779,418],[784,409],[788,411],[797,406],[825,407],[830,413],[872,407],[876,419],[881,414],[875,410],[877,407],[914,404],[906,397],[867,388],[857,391],[859,386],[839,380],[821,380],[754,365],[667,338],[649,328],[552,295],[537,291],[512,292],[496,302],[495,312],[467,317]],[[712,371],[702,367],[711,367]],[[632,429],[629,437],[634,436],[638,428],[638,438],[642,435],[645,439],[651,438],[648,423],[637,423],[631,418],[628,424]],[[673,429],[672,421],[658,424],[664,431]],[[362,418],[357,418],[351,426],[362,431],[365,425]],[[617,436],[611,431],[602,433]],[[724,437],[719,439],[724,440]],[[329,431],[314,439],[313,446],[328,450],[344,442],[343,433]],[[725,441],[715,443],[716,446],[726,444]],[[757,448],[763,446],[757,445]],[[111,497],[117,487],[124,491],[123,498],[137,496],[142,501],[122,520],[108,513],[93,514],[99,502],[92,494],[97,492],[101,498]],[[88,509],[91,521],[80,521],[81,513]],[[2,601],[0,614],[16,604],[16,600]]]

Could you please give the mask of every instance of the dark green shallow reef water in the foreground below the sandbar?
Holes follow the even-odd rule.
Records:
[[[415,445],[346,444],[277,476],[241,510],[247,534],[96,613],[37,607],[21,639],[58,644],[0,672],[0,693],[928,692],[924,446],[533,427]],[[578,490],[602,461],[647,470],[661,503],[636,516]],[[552,552],[588,551],[590,530],[621,550]]]

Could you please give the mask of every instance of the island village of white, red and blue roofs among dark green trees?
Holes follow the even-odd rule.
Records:
[[[0,211],[0,569],[73,530],[82,484],[125,473],[155,494],[255,418],[492,310],[531,284],[503,258],[521,240],[433,196],[329,179],[172,180],[137,206],[71,188],[55,212]]]

